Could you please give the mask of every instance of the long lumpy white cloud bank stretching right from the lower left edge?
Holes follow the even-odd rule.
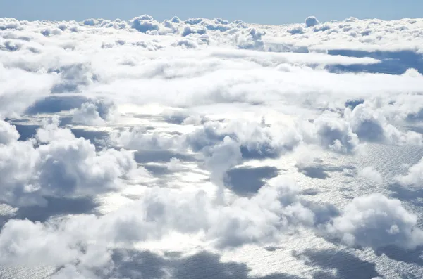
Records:
[[[8,221],[0,233],[0,249],[8,251],[8,257],[1,253],[0,262],[72,266],[78,259],[78,268],[100,268],[111,260],[114,245],[162,238],[173,230],[202,231],[202,237],[219,248],[271,243],[291,226],[313,223],[314,214],[300,205],[297,195],[295,182],[283,177],[269,181],[255,197],[238,198],[230,205],[214,205],[202,192],[152,188],[133,205],[100,217],[75,216],[59,223]]]

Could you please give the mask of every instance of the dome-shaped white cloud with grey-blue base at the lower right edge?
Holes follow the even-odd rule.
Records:
[[[415,249],[423,244],[417,216],[407,212],[400,200],[381,194],[355,197],[326,230],[350,246],[378,249],[396,245]]]

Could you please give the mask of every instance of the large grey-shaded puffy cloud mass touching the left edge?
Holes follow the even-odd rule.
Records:
[[[57,119],[46,124],[28,141],[16,141],[14,134],[8,145],[0,146],[3,202],[43,205],[44,195],[97,195],[121,188],[120,179],[129,179],[138,170],[132,153],[114,149],[97,153],[90,141],[57,125]]]

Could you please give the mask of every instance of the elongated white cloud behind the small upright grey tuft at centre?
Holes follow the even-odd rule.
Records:
[[[302,141],[300,131],[293,126],[234,119],[228,122],[202,122],[183,114],[164,114],[169,121],[188,125],[197,125],[195,129],[183,135],[169,135],[135,127],[112,134],[112,140],[118,145],[135,150],[177,149],[201,152],[206,157],[213,153],[217,145],[233,142],[238,146],[243,159],[265,159],[279,157],[293,150]],[[284,129],[283,131],[281,129]]]

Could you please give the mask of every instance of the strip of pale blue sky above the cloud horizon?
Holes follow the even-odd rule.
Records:
[[[0,17],[19,20],[83,20],[85,18],[121,18],[152,15],[157,20],[178,15],[186,18],[240,19],[278,25],[303,22],[308,15],[321,21],[356,18],[422,17],[422,0],[0,0]]]

